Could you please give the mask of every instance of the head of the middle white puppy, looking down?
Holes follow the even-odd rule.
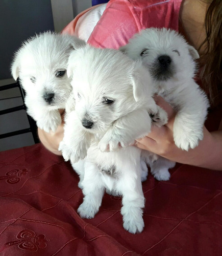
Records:
[[[132,112],[145,96],[150,76],[140,77],[136,61],[117,50],[85,47],[69,57],[68,75],[79,121],[90,133],[103,133],[118,118]]]

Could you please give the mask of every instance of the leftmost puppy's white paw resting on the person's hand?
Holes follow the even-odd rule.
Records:
[[[55,132],[61,122],[62,119],[59,111],[50,111],[45,114],[44,118],[38,119],[36,124],[40,129],[44,130],[46,133],[49,133],[51,130]]]

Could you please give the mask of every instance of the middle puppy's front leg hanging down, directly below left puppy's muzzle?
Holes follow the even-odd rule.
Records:
[[[90,146],[91,136],[85,132],[80,124],[75,111],[65,117],[64,138],[59,144],[59,150],[65,161],[72,163],[84,159]]]

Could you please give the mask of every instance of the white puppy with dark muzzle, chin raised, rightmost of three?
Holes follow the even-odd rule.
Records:
[[[205,93],[195,83],[194,59],[198,52],[176,31],[145,29],[120,48],[132,59],[141,59],[155,79],[156,92],[177,111],[175,144],[188,151],[203,139],[209,106]]]

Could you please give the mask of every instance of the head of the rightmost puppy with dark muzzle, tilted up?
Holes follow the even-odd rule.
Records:
[[[133,59],[142,59],[157,81],[193,77],[194,59],[199,58],[181,35],[165,28],[142,30],[120,50]]]

